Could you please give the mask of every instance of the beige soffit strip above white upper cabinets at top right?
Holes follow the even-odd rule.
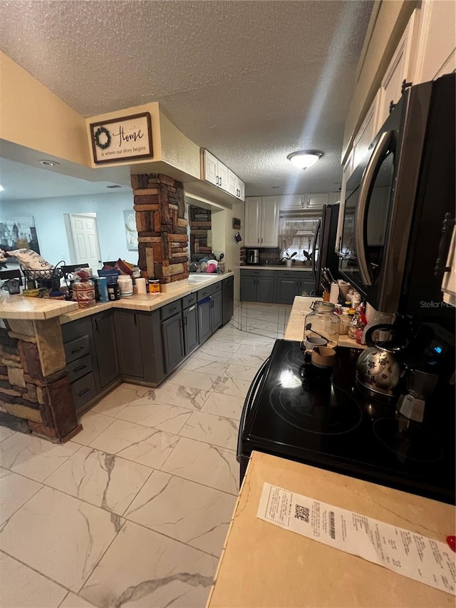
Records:
[[[346,161],[353,143],[353,135],[361,126],[371,106],[410,15],[419,4],[417,0],[383,0],[380,3],[371,29],[371,38],[366,39],[363,48],[362,64],[358,68],[358,81],[346,118],[342,163]]]

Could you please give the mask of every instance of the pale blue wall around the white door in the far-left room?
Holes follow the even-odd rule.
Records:
[[[123,210],[133,210],[133,193],[68,196],[36,200],[1,202],[0,220],[33,215],[41,255],[56,264],[64,259],[71,264],[63,214],[96,213],[98,237],[103,260],[119,257],[136,264],[138,252],[128,251],[123,225]]]

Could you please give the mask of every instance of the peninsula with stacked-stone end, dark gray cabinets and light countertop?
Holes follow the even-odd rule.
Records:
[[[6,297],[0,304],[0,424],[54,442],[123,380],[155,387],[232,316],[233,274],[182,279],[157,295],[78,309]]]

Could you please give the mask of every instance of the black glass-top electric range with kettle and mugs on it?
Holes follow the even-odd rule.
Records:
[[[252,450],[455,504],[454,396],[437,385],[422,424],[356,387],[361,351],[338,347],[328,373],[300,343],[277,340],[247,394],[239,426],[241,481]]]

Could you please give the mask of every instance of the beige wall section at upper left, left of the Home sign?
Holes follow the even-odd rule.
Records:
[[[90,166],[86,120],[0,51],[0,140]]]

